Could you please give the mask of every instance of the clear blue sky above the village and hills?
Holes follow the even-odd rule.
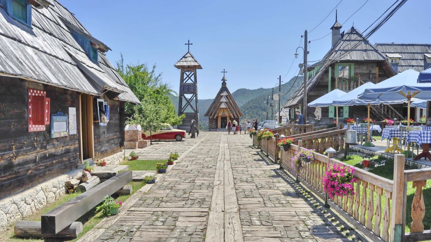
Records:
[[[75,14],[97,39],[112,51],[109,60],[123,53],[126,63],[157,64],[163,81],[178,91],[179,71],[174,68],[186,52],[200,62],[199,99],[213,98],[221,87],[223,68],[228,71],[228,88],[270,88],[278,75],[288,81],[297,73],[300,58],[293,61],[300,36],[319,24],[339,0],[278,1],[172,1],[172,0],[59,0]],[[369,0],[341,31],[353,23],[364,31],[395,0]],[[342,0],[338,22],[343,23],[365,0]],[[304,4],[307,11],[304,13]],[[409,0],[375,34],[370,42],[430,43],[429,0]],[[335,11],[309,32],[309,40],[328,34]],[[303,43],[301,43],[303,46]],[[310,43],[308,60],[321,59],[331,47],[331,34]],[[302,51],[302,50],[300,50]],[[298,53],[302,53],[302,52]]]

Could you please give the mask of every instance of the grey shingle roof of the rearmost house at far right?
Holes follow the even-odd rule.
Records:
[[[398,63],[398,73],[407,69],[423,71],[429,66],[424,54],[431,53],[431,43],[376,43],[375,47],[381,53],[401,56]]]

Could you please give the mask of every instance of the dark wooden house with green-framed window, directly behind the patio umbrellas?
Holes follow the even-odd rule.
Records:
[[[311,65],[308,70],[307,101],[323,96],[338,88],[349,92],[366,82],[378,83],[397,74],[387,57],[376,49],[369,40],[354,27],[340,33],[342,26],[336,22],[331,27],[332,47],[321,61]],[[294,110],[303,107],[303,85],[290,97],[284,108],[290,108],[290,118]],[[339,118],[367,117],[365,106],[338,107]],[[320,111],[320,110],[319,110]],[[317,112],[319,112],[317,111]],[[401,105],[372,105],[372,118],[378,121],[384,118],[402,119]],[[305,115],[305,114],[304,114]],[[321,117],[315,115],[315,108],[307,108],[307,121],[316,125],[333,124],[336,117],[335,107],[321,107]]]

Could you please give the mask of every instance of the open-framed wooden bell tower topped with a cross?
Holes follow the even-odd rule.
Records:
[[[180,70],[180,91],[178,96],[178,115],[186,114],[183,123],[178,129],[189,130],[191,121],[196,121],[199,128],[199,107],[197,100],[197,69],[202,69],[199,62],[190,53],[190,40],[187,45],[187,53],[174,65]]]

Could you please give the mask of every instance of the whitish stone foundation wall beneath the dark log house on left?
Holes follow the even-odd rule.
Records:
[[[118,152],[104,159],[106,164],[119,164],[123,157],[124,152]],[[24,192],[0,200],[0,233],[12,223],[22,220],[65,195],[64,183],[74,177],[80,177],[82,171],[82,168],[73,170]]]

